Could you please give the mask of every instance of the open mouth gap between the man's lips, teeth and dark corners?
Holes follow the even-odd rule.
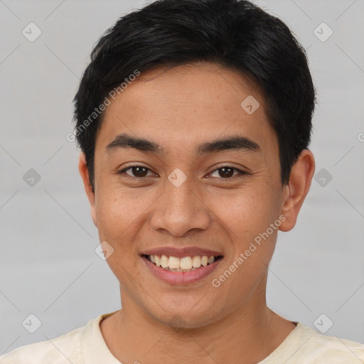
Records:
[[[223,259],[223,255],[196,255],[193,257],[173,257],[168,255],[142,255],[157,267],[171,272],[193,272]]]

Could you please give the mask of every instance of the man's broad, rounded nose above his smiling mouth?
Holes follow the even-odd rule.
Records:
[[[208,229],[210,210],[198,196],[198,188],[193,188],[188,179],[178,187],[166,180],[164,193],[156,200],[151,216],[154,230],[166,230],[173,236],[183,237],[192,230]]]

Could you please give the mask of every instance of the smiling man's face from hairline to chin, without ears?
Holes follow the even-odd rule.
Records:
[[[282,213],[279,150],[264,99],[244,77],[208,63],[163,70],[142,73],[107,107],[92,217],[100,242],[114,249],[107,263],[123,307],[198,327],[265,304],[278,231],[268,228]],[[253,113],[251,97],[260,105]],[[159,147],[123,147],[121,134]],[[243,139],[215,143],[230,138]],[[149,262],[150,252],[180,267],[191,266],[188,257],[196,265],[203,255],[220,258],[173,272]]]

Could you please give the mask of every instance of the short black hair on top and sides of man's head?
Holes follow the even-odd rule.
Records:
[[[119,18],[96,43],[82,75],[74,99],[74,134],[92,188],[104,114],[95,109],[109,92],[136,71],[200,61],[255,82],[277,133],[282,184],[289,182],[291,166],[311,141],[315,106],[304,48],[279,18],[247,0],[158,0]]]

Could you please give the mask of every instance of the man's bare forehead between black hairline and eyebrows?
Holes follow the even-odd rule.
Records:
[[[105,149],[118,134],[127,133],[176,153],[225,134],[246,135],[257,144],[265,138],[264,144],[274,146],[264,109],[257,87],[234,70],[210,63],[155,68],[112,100],[97,145]]]

